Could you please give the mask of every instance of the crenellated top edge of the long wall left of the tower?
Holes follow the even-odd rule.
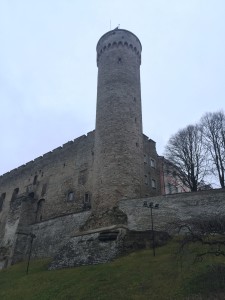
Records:
[[[60,155],[64,150],[76,146],[81,141],[86,140],[87,138],[92,137],[93,135],[94,135],[94,130],[88,132],[87,135],[84,134],[72,141],[68,141],[67,143],[63,144],[62,146],[57,147],[57,148],[53,149],[52,151],[49,151],[49,152],[43,154],[42,156],[39,156],[39,157],[35,158],[34,160],[27,162],[24,165],[21,165],[18,168],[15,168],[7,173],[2,174],[0,176],[0,180],[4,180],[9,177],[17,176],[18,174],[20,174],[24,170],[27,170],[28,168],[35,167],[35,166],[39,165],[40,163],[44,163],[47,160],[51,160],[55,155]]]

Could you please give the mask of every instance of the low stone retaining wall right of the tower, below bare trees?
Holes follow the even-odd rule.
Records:
[[[159,204],[153,210],[154,227],[169,233],[170,223],[177,220],[225,215],[225,189],[121,200],[119,208],[127,214],[130,230],[151,228],[150,208],[143,207],[144,201]]]

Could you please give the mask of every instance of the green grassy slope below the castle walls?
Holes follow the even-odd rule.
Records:
[[[20,263],[0,271],[0,299],[224,299],[208,296],[225,290],[223,271],[218,281],[211,267],[222,259],[193,264],[190,253],[181,261],[176,249],[170,242],[156,249],[156,257],[144,250],[109,264],[56,271],[47,271],[47,260],[31,261],[28,275]]]

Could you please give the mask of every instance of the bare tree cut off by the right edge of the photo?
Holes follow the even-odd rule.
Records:
[[[225,115],[222,111],[206,113],[201,119],[204,144],[210,154],[212,172],[225,187]]]

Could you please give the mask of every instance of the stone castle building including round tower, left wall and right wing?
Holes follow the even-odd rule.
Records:
[[[142,131],[141,51],[130,31],[104,34],[95,130],[0,176],[1,267],[24,257],[31,232],[36,257],[53,256],[91,215],[161,194],[155,142]]]

